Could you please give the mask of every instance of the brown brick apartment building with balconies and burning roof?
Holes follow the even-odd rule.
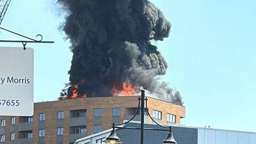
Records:
[[[180,124],[185,107],[148,98],[154,120]],[[33,117],[0,116],[1,144],[74,143],[111,128],[112,122],[129,120],[136,113],[138,97],[81,98],[34,104]],[[135,121],[140,120],[138,114]],[[151,123],[145,114],[145,122]]]

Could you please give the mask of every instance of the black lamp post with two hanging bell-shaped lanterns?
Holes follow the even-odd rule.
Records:
[[[119,129],[140,130],[141,131],[141,144],[144,144],[144,130],[169,131],[166,139],[161,144],[166,144],[166,143],[177,144],[177,142],[176,142],[176,140],[174,139],[174,136],[173,136],[173,127],[172,126],[168,127],[168,126],[160,125],[150,116],[149,111],[148,111],[148,106],[147,106],[148,99],[145,98],[145,90],[141,90],[141,97],[139,97],[138,101],[139,101],[139,106],[138,106],[137,112],[132,117],[132,119],[129,120],[129,121],[126,121],[124,123],[120,123],[120,124],[112,123],[112,131],[111,131],[110,135],[106,138],[106,140],[103,140],[103,142],[106,142],[106,143],[109,143],[109,144],[122,143],[121,139],[117,136],[116,130],[115,130],[115,128],[119,128]],[[163,128],[168,128],[168,129],[153,129],[153,128],[145,128],[144,127],[145,101],[146,101],[146,112],[148,113],[150,119],[154,123],[156,123],[158,126],[163,127]],[[141,103],[141,107],[140,107],[140,103]],[[124,124],[129,123],[130,121],[132,121],[136,117],[136,115],[138,114],[139,110],[141,110],[141,127],[140,128],[137,128],[137,127],[120,127],[119,126],[119,125],[124,125]]]

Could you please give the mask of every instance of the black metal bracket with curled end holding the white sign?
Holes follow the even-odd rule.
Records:
[[[24,38],[30,39],[30,40],[0,40],[0,42],[18,42],[18,43],[22,43],[23,50],[26,50],[26,44],[27,43],[54,43],[54,41],[42,41],[42,35],[41,34],[36,35],[36,37],[38,37],[38,36],[41,37],[40,40],[36,40],[36,39],[33,39],[33,38],[29,38],[27,36],[21,35],[19,33],[13,32],[11,30],[5,29],[3,27],[0,27],[0,29],[11,32],[13,34],[19,35],[19,36],[24,37]]]

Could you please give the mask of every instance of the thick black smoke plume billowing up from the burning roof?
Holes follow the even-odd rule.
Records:
[[[62,30],[73,53],[66,89],[90,97],[111,96],[122,83],[143,88],[177,105],[183,105],[179,91],[159,82],[167,63],[151,40],[169,36],[171,24],[146,0],[58,0],[66,12]],[[74,88],[74,85],[76,85]]]

